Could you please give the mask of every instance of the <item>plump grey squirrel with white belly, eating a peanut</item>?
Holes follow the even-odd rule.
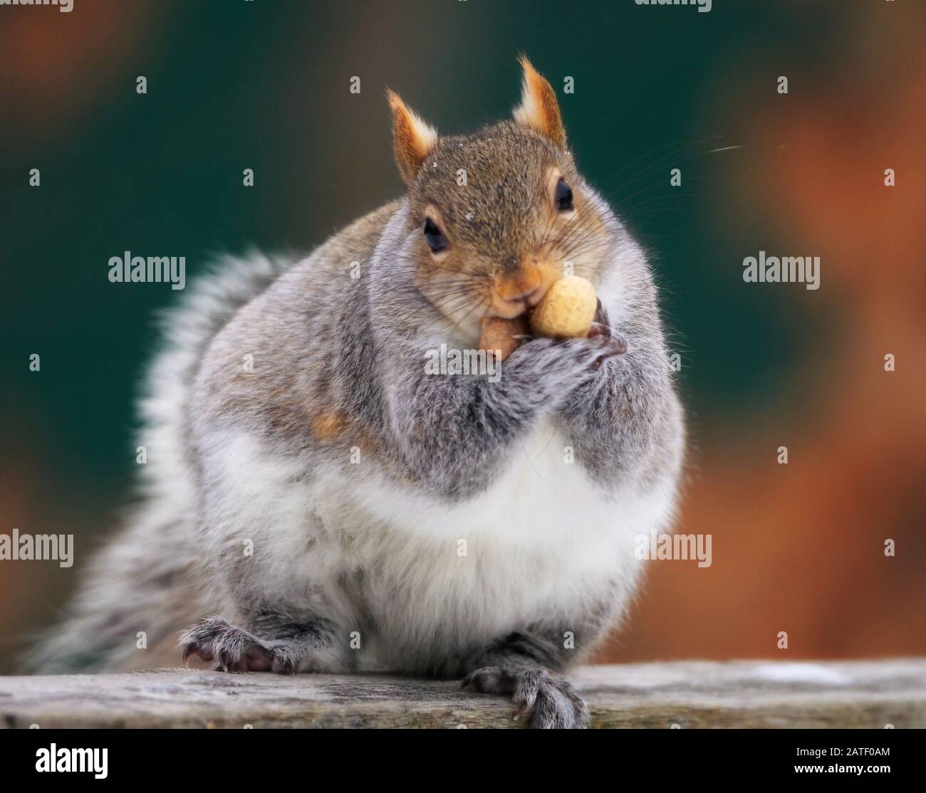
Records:
[[[513,118],[470,134],[388,92],[404,197],[302,260],[226,259],[164,317],[142,499],[34,670],[391,670],[588,725],[564,672],[625,616],[634,538],[669,530],[684,424],[643,249],[520,63]],[[425,371],[566,266],[587,337],[519,340],[500,378]]]

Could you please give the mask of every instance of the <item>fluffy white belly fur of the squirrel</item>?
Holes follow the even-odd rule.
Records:
[[[325,607],[356,626],[361,669],[404,668],[533,619],[594,610],[606,591],[614,601],[615,587],[626,604],[644,564],[634,537],[670,518],[668,492],[606,497],[578,461],[564,465],[566,441],[549,422],[490,489],[449,507],[397,488],[362,459],[347,469],[356,476],[326,465],[299,481],[297,465],[251,436],[219,447],[212,459],[225,466],[239,531],[217,539],[252,540],[263,579],[281,595],[308,581],[323,590]]]

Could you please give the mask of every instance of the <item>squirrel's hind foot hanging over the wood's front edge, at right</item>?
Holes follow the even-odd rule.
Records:
[[[584,729],[589,725],[585,700],[567,680],[542,667],[483,666],[460,684],[460,688],[469,686],[486,694],[510,694],[519,715],[532,712],[535,729]]]

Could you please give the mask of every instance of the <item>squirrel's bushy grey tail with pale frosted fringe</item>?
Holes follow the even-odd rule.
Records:
[[[177,652],[177,631],[216,607],[196,580],[202,576],[191,575],[199,563],[194,475],[183,448],[185,404],[209,341],[293,261],[262,254],[225,259],[162,316],[165,343],[141,401],[139,445],[147,458],[139,466],[141,502],[82,571],[63,620],[24,656],[27,668],[55,674],[168,663],[160,651]]]

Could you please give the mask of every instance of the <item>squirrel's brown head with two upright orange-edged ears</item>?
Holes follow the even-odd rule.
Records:
[[[526,57],[514,118],[442,137],[393,92],[416,285],[461,327],[529,311],[557,279],[597,283],[616,220],[576,171],[557,95]]]

